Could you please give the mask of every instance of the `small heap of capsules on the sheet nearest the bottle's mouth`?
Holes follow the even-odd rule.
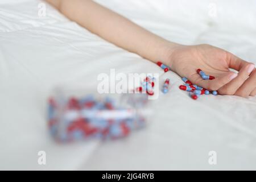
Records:
[[[141,86],[136,88],[137,92],[146,92],[148,96],[154,95],[155,77],[147,76],[141,83]]]

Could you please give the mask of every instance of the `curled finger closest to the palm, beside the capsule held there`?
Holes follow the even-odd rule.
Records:
[[[201,86],[209,91],[218,90],[222,86],[228,84],[234,78],[237,77],[236,73],[228,72],[221,77],[217,77],[214,80],[203,80],[200,75],[192,75],[189,79],[196,85]]]

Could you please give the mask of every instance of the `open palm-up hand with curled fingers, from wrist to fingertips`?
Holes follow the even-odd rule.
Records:
[[[255,65],[223,49],[207,44],[176,46],[164,62],[181,77],[187,77],[193,84],[210,91],[218,90],[219,94],[241,97],[256,95]],[[215,79],[203,80],[196,72],[198,68]]]

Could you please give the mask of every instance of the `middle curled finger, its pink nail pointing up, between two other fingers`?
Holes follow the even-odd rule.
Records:
[[[233,95],[234,93],[236,93],[236,91],[240,88],[243,82],[245,82],[245,80],[249,77],[250,73],[253,71],[254,68],[254,64],[244,64],[243,67],[240,69],[240,72],[238,72],[238,76],[230,81],[228,84],[222,86],[222,88],[218,90],[219,93],[227,95]]]

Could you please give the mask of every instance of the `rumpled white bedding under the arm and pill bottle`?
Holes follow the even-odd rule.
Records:
[[[0,1],[0,169],[256,169],[256,98],[191,100],[175,73],[105,42],[43,1]],[[256,2],[97,1],[163,36],[209,43],[256,63]],[[214,10],[216,7],[216,13]],[[86,18],[86,17],[85,17]],[[159,73],[171,90],[151,103],[148,127],[130,137],[56,144],[46,125],[49,90],[62,82],[97,85],[98,73]],[[47,164],[38,164],[38,151]],[[209,165],[208,152],[217,152]]]

